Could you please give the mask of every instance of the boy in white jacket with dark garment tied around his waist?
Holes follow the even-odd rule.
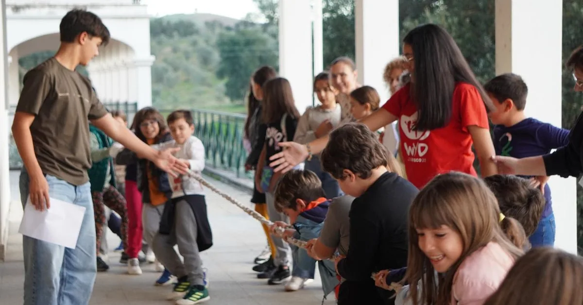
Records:
[[[156,145],[157,148],[181,148],[174,156],[200,174],[205,167],[205,148],[201,140],[192,135],[191,112],[174,111],[168,115],[167,122],[174,141]],[[177,305],[205,302],[210,296],[199,253],[212,246],[205,194],[201,183],[185,175],[170,179],[170,186],[172,198],[164,206],[160,229],[154,237],[154,254],[178,278],[169,300],[178,299]],[[174,250],[176,244],[184,262]]]

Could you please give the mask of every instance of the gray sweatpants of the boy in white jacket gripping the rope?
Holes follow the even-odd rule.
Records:
[[[174,225],[169,235],[157,233],[154,237],[153,250],[158,260],[171,274],[181,278],[188,276],[190,285],[204,285],[202,261],[196,244],[196,218],[192,208],[185,200],[176,203]],[[178,245],[184,263],[174,250]]]

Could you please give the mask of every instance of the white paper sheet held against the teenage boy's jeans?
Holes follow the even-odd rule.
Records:
[[[30,203],[30,197],[27,199],[18,233],[74,249],[85,207],[54,198],[50,200],[49,209],[38,211]]]

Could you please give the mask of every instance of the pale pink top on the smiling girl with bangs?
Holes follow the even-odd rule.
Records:
[[[490,242],[466,258],[454,275],[452,305],[482,305],[514,265],[499,244]]]

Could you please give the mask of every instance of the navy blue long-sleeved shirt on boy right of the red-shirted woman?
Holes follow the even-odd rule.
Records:
[[[496,155],[515,158],[542,156],[552,149],[561,148],[569,141],[567,129],[554,127],[535,118],[526,118],[511,127],[494,127],[494,149]],[[528,178],[528,177],[526,177]],[[553,212],[549,184],[545,185],[545,209],[543,217]]]

